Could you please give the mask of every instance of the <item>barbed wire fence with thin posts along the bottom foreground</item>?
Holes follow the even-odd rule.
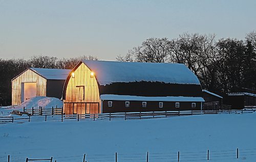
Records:
[[[8,157],[9,156],[9,157]],[[25,162],[24,155],[1,155],[1,162]],[[145,152],[145,153],[113,153],[113,154],[83,154],[72,156],[53,156],[53,162],[167,162],[167,161],[233,161],[236,159],[256,159],[256,148],[251,149],[232,149],[232,150],[205,150],[192,152]],[[33,161],[33,160],[32,160]],[[40,160],[37,158],[36,161]],[[49,161],[49,160],[48,160]]]

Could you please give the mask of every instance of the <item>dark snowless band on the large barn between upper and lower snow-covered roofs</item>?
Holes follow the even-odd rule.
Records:
[[[170,84],[161,82],[131,82],[112,83],[99,86],[101,94],[131,95],[131,96],[187,96],[202,97],[201,85]]]

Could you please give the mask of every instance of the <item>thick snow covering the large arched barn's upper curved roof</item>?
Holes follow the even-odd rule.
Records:
[[[197,76],[184,64],[82,61],[91,69],[99,85],[115,82],[163,82],[200,85]]]

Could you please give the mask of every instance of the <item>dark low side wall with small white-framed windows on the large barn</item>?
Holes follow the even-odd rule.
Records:
[[[112,101],[112,107],[108,106],[108,101]],[[192,109],[191,103],[196,103],[196,107]],[[180,108],[175,107],[175,102],[163,102],[163,107],[160,108],[159,101],[147,101],[146,107],[142,107],[142,101],[130,101],[129,107],[125,107],[125,101],[115,101],[115,100],[102,101],[102,113],[183,111],[183,110],[201,110],[201,102],[180,102]]]

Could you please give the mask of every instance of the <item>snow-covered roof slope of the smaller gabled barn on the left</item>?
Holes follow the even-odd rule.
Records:
[[[46,69],[46,68],[29,68],[46,79],[65,80],[70,73],[70,69]]]

